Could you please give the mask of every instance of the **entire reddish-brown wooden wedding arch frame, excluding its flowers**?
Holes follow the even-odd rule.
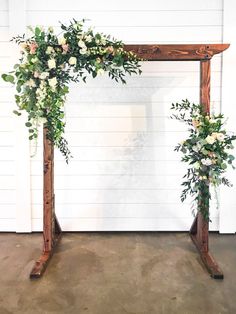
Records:
[[[147,61],[199,61],[200,103],[204,110],[210,113],[210,61],[215,54],[228,47],[229,44],[126,45],[125,49],[133,51]],[[46,135],[47,129],[44,128],[43,252],[30,273],[32,279],[42,276],[62,234],[54,206],[54,147]],[[208,231],[209,223],[198,213],[190,229],[190,237],[210,275],[216,279],[223,279],[223,272],[209,253]]]

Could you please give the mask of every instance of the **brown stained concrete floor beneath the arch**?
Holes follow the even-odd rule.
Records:
[[[186,233],[67,233],[30,281],[40,234],[0,234],[0,314],[236,313],[236,236],[211,234],[214,280]]]

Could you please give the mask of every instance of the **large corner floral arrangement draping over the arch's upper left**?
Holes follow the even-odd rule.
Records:
[[[124,50],[121,41],[109,35],[84,30],[84,20],[61,24],[62,32],[54,34],[36,27],[32,36],[14,37],[20,45],[21,58],[14,70],[3,74],[6,82],[16,85],[16,115],[26,111],[29,139],[38,137],[39,126],[47,128],[48,138],[57,146],[66,161],[70,157],[65,131],[64,104],[69,82],[86,82],[87,75],[96,77],[107,72],[111,79],[125,83],[124,76],[140,74],[139,59]]]

